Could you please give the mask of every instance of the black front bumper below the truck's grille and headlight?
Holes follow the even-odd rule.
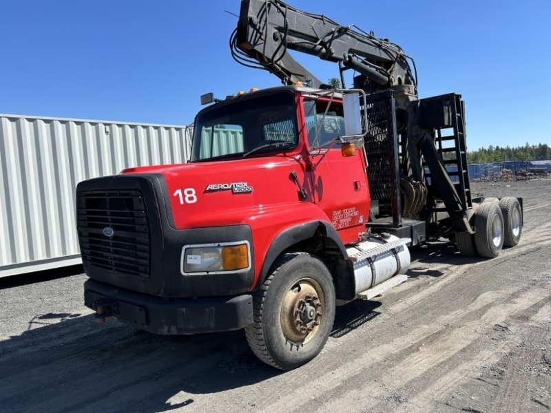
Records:
[[[99,319],[116,317],[158,335],[238,330],[253,322],[250,294],[164,299],[88,279],[84,284],[84,302],[98,313]]]

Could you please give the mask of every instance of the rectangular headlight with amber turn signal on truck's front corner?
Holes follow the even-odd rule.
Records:
[[[248,241],[186,245],[182,249],[183,275],[248,271],[249,268],[251,252]]]

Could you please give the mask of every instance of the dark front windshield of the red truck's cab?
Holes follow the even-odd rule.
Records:
[[[249,98],[204,112],[196,119],[191,162],[295,147],[295,113],[292,92]]]

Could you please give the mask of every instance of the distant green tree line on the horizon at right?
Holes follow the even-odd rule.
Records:
[[[467,151],[469,164],[481,162],[503,162],[505,160],[551,160],[551,147],[546,143],[538,145],[526,145],[519,147],[500,147],[490,145],[488,149],[481,148],[477,151]]]

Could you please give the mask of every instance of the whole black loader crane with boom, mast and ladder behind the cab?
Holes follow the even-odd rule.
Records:
[[[464,102],[460,95],[419,99],[415,62],[401,47],[355,25],[340,25],[280,0],[242,0],[238,27],[230,44],[236,61],[267,70],[285,85],[301,82],[315,88],[329,87],[293,59],[289,54],[293,50],[337,63],[343,87],[344,72],[354,70],[353,87],[370,95],[391,94],[395,121],[383,129],[395,129],[389,131],[394,142],[382,142],[369,131],[366,137],[368,147],[370,136],[373,138],[368,151],[368,157],[372,157],[368,159],[373,172],[371,193],[376,194],[377,187],[385,186],[384,182],[377,182],[375,169],[388,169],[388,163],[393,163],[394,154],[388,148],[399,154],[395,193],[381,193],[379,197],[380,207],[388,203],[386,210],[392,211],[393,222],[388,229],[402,226],[402,216],[421,219],[433,227],[428,233],[453,233],[464,237],[470,248],[473,204],[466,165]],[[384,120],[368,120],[380,131]],[[448,171],[446,165],[457,165],[457,171]],[[455,182],[451,176],[457,176]],[[441,220],[444,215],[449,216],[448,222]],[[446,227],[440,224],[442,221]]]

